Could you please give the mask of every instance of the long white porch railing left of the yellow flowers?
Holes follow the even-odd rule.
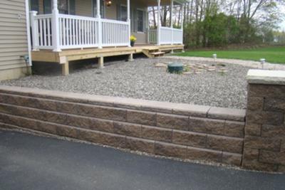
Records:
[[[53,31],[53,24],[58,25],[58,32]],[[58,14],[58,19],[53,19],[53,14],[36,15],[36,11],[31,11],[33,50],[58,50],[53,44],[53,39],[56,37],[60,49],[129,46],[128,28],[129,23],[125,21],[66,14]],[[102,33],[101,41],[99,30]]]

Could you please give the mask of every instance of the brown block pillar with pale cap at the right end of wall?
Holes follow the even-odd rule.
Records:
[[[285,71],[249,70],[242,166],[285,171]]]

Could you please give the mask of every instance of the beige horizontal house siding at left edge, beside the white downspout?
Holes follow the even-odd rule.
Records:
[[[0,1],[0,80],[24,75],[28,55],[25,0]]]

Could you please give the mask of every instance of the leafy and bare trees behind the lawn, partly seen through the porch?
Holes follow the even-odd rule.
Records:
[[[284,0],[190,0],[184,9],[175,6],[174,27],[184,24],[187,48],[271,43],[280,22]],[[160,12],[162,26],[170,25],[169,6]],[[155,26],[157,9],[150,9]],[[181,20],[180,13],[184,15]],[[151,18],[151,17],[150,17]]]

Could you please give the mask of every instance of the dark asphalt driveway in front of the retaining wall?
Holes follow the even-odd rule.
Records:
[[[0,130],[0,189],[285,189],[285,175]]]

